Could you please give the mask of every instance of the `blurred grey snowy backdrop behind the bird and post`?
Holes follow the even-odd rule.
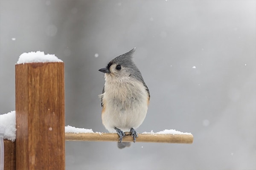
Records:
[[[255,0],[0,0],[0,113],[20,54],[44,51],[65,62],[66,125],[107,132],[98,69],[134,47],[151,92],[137,132],[193,144],[66,142],[67,170],[255,170]]]

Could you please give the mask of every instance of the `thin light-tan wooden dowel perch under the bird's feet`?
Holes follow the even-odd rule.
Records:
[[[66,141],[119,141],[117,133],[65,133]],[[160,142],[192,144],[193,135],[138,134],[136,142]],[[125,136],[123,142],[133,142],[132,136]]]

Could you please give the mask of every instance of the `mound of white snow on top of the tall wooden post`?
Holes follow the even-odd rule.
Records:
[[[24,64],[30,62],[63,62],[54,54],[44,54],[42,51],[23,53],[20,55],[17,64]]]

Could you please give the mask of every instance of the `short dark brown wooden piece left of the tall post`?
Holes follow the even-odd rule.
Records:
[[[15,167],[15,142],[7,139],[4,142],[4,170],[16,170]]]

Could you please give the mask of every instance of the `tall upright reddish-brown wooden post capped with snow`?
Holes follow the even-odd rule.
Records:
[[[64,63],[15,65],[16,169],[65,169]]]

